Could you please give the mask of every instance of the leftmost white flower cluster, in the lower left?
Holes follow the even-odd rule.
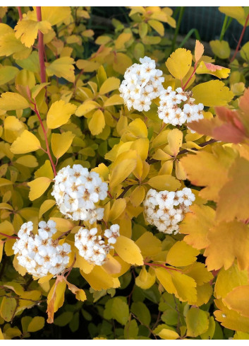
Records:
[[[32,231],[32,221],[23,224],[18,231],[18,239],[13,245],[18,263],[34,277],[58,275],[68,265],[71,246],[68,243],[59,245],[51,238],[56,233],[56,223],[52,220],[40,221],[38,234]]]

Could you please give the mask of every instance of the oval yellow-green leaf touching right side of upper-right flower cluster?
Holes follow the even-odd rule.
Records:
[[[195,103],[203,103],[208,107],[227,105],[233,98],[231,90],[217,80],[200,83],[193,87],[192,92]]]

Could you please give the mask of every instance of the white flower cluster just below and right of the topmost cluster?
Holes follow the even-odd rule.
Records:
[[[195,105],[195,98],[190,97],[189,91],[183,91],[182,88],[176,88],[172,91],[171,86],[162,91],[160,105],[158,108],[159,119],[165,124],[183,125],[184,122],[193,122],[203,119],[202,103]]]

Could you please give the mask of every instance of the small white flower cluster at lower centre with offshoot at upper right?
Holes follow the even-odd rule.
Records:
[[[109,250],[113,248],[111,244],[116,243],[116,238],[119,237],[119,225],[114,224],[110,229],[106,229],[104,236],[107,241],[97,235],[97,228],[88,230],[81,227],[75,234],[75,247],[78,248],[80,256],[91,264],[103,265]]]

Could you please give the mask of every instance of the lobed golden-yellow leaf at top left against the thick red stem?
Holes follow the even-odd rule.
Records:
[[[27,16],[18,21],[14,30],[16,30],[16,38],[20,38],[20,42],[26,47],[31,47],[37,38],[38,30],[46,34],[51,30],[51,24],[47,21],[32,21]]]

